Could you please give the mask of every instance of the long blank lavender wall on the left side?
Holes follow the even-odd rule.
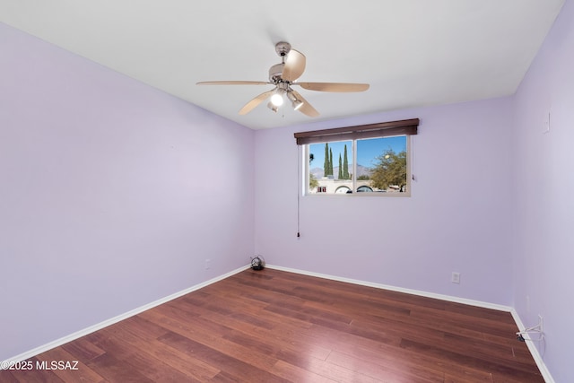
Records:
[[[0,52],[0,361],[248,264],[253,131],[1,23]]]

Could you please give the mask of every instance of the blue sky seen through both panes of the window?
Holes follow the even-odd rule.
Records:
[[[344,159],[344,145],[347,144],[347,155],[349,165],[352,164],[352,142],[340,141],[329,143],[329,148],[333,150],[333,167],[339,166],[339,153],[341,153],[341,161]],[[373,138],[369,140],[357,141],[357,163],[359,165],[370,168],[375,165],[376,158],[385,152],[388,148],[393,149],[395,152],[403,152],[406,150],[406,136],[397,135],[393,137]],[[313,153],[315,160],[311,162],[311,168],[322,168],[325,162],[325,144],[311,144],[310,153]]]

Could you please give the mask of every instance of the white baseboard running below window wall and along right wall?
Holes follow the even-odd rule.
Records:
[[[484,309],[497,309],[500,311],[507,311],[512,315],[512,318],[514,318],[514,321],[517,323],[517,327],[518,327],[519,331],[524,331],[524,329],[526,328],[524,326],[524,324],[522,323],[522,320],[518,316],[517,311],[514,308],[511,308],[509,306],[497,305],[497,304],[493,304],[493,303],[489,303],[489,302],[483,302],[481,300],[466,300],[464,298],[453,297],[450,295],[435,294],[433,292],[422,292],[419,290],[412,290],[412,289],[404,289],[402,287],[390,286],[390,285],[381,284],[381,283],[371,283],[371,282],[359,281],[359,280],[354,280],[354,279],[350,279],[350,278],[343,278],[343,277],[334,276],[334,275],[318,274],[318,273],[313,273],[313,272],[309,272],[309,271],[293,269],[290,267],[283,267],[283,266],[277,266],[277,265],[265,265],[265,267],[268,267],[270,269],[275,269],[275,270],[286,271],[289,273],[304,274],[304,275],[309,275],[309,276],[316,276],[318,278],[330,279],[333,281],[339,281],[339,282],[359,284],[362,286],[375,287],[378,289],[389,290],[392,292],[405,292],[407,294],[419,295],[422,297],[434,298],[437,300],[447,300],[447,301],[451,301],[451,302],[463,303],[463,304],[467,304],[467,305],[471,305],[471,306],[481,307]],[[544,363],[542,356],[538,352],[538,349],[535,347],[532,340],[529,338],[529,336],[527,334],[524,337],[526,339],[526,346],[528,347],[528,351],[530,351],[530,353],[532,354],[532,357],[534,358],[536,365],[538,366],[538,369],[540,370],[540,373],[542,374],[542,376],[544,378],[544,381],[546,383],[554,383],[554,379],[552,379],[552,375],[550,374],[550,371],[546,367],[546,364]]]

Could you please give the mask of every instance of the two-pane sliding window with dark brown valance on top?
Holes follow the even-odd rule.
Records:
[[[307,195],[410,196],[410,135],[419,120],[295,134]]]

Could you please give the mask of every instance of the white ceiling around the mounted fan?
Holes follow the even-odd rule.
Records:
[[[564,0],[0,0],[0,21],[253,129],[513,94]],[[307,57],[298,91],[320,113],[239,109],[284,40]]]

